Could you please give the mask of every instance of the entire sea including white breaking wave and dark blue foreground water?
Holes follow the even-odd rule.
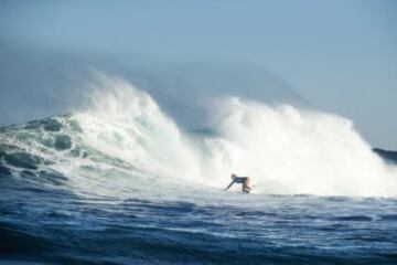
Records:
[[[396,264],[397,170],[331,114],[228,98],[186,131],[115,78],[0,128],[2,264]],[[248,174],[250,194],[233,187]]]

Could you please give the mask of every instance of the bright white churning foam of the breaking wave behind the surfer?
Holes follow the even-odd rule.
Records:
[[[218,135],[197,136],[182,131],[148,94],[100,78],[89,110],[74,116],[83,141],[146,176],[224,188],[236,172],[251,177],[255,193],[397,194],[396,168],[343,117],[228,98],[213,109]]]

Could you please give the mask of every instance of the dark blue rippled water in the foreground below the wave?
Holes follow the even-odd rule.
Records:
[[[116,200],[29,179],[0,174],[4,264],[397,263],[396,199],[196,190]]]

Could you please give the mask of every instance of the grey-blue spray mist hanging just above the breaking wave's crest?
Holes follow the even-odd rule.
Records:
[[[98,72],[132,82],[185,128],[205,125],[208,102],[222,96],[304,102],[277,74],[238,60],[164,61],[135,53],[82,54],[7,40],[0,42],[0,56],[1,126],[85,109],[89,96],[84,95],[97,85]]]

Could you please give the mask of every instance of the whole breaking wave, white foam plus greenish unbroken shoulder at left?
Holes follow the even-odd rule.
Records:
[[[212,107],[211,128],[184,131],[148,94],[106,76],[87,100],[73,115],[2,128],[1,170],[121,198],[168,183],[224,188],[232,172],[250,176],[254,193],[397,194],[396,168],[343,117],[232,97]]]

